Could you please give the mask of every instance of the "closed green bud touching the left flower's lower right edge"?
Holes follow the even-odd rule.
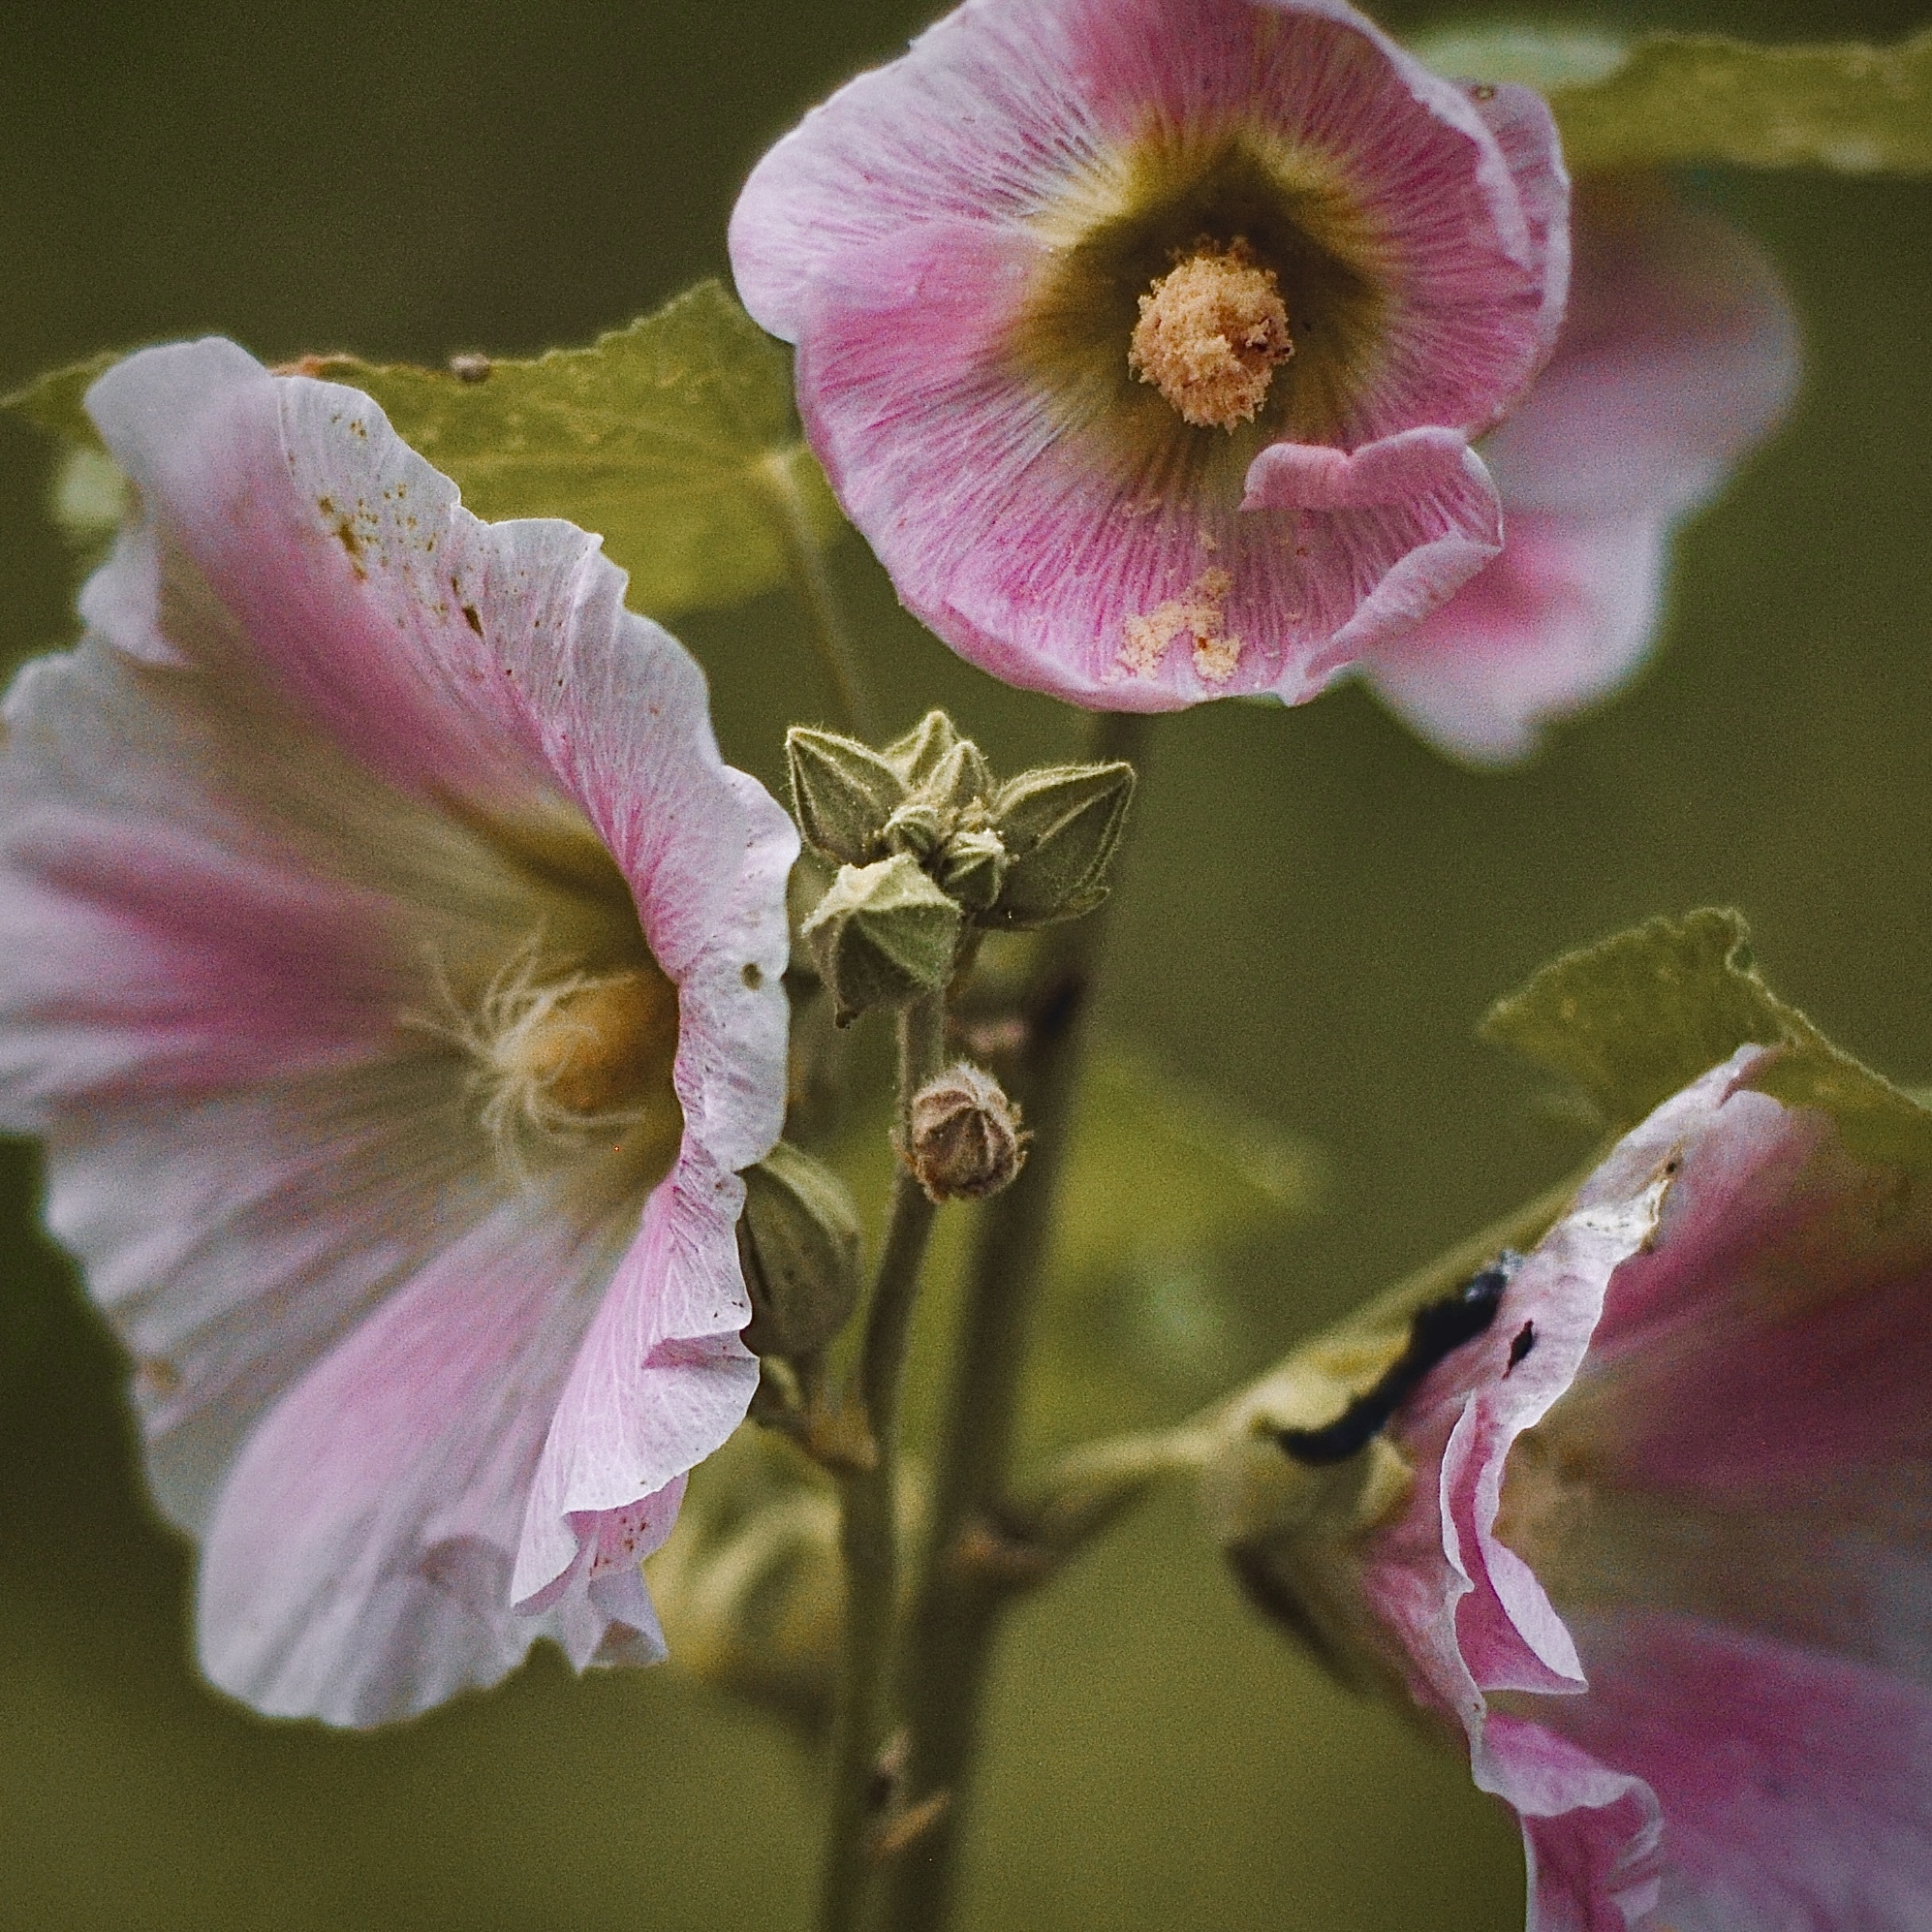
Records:
[[[819,1354],[858,1306],[860,1223],[846,1184],[781,1140],[744,1177],[738,1260],[753,1354]]]

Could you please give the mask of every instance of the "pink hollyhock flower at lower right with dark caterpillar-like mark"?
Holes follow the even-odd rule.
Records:
[[[1876,1080],[1774,1097],[1785,1051],[1665,1101],[1418,1318],[1408,1368],[1439,1360],[1372,1439],[1333,1439],[1331,1350],[1221,1470],[1271,1511],[1258,1594],[1517,1808],[1532,1932],[1932,1924],[1924,1122]]]

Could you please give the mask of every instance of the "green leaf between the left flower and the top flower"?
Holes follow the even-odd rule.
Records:
[[[800,440],[790,355],[719,282],[533,361],[303,367],[371,394],[477,516],[599,531],[651,616],[773,589],[794,543],[844,527]]]

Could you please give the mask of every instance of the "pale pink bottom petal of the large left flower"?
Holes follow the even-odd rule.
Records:
[[[203,1549],[216,1685],[270,1716],[369,1725],[495,1683],[562,1634],[510,1607],[510,1567],[578,1304],[609,1265],[568,1217],[502,1208],[269,1412]],[[597,1634],[663,1656],[655,1621]]]

